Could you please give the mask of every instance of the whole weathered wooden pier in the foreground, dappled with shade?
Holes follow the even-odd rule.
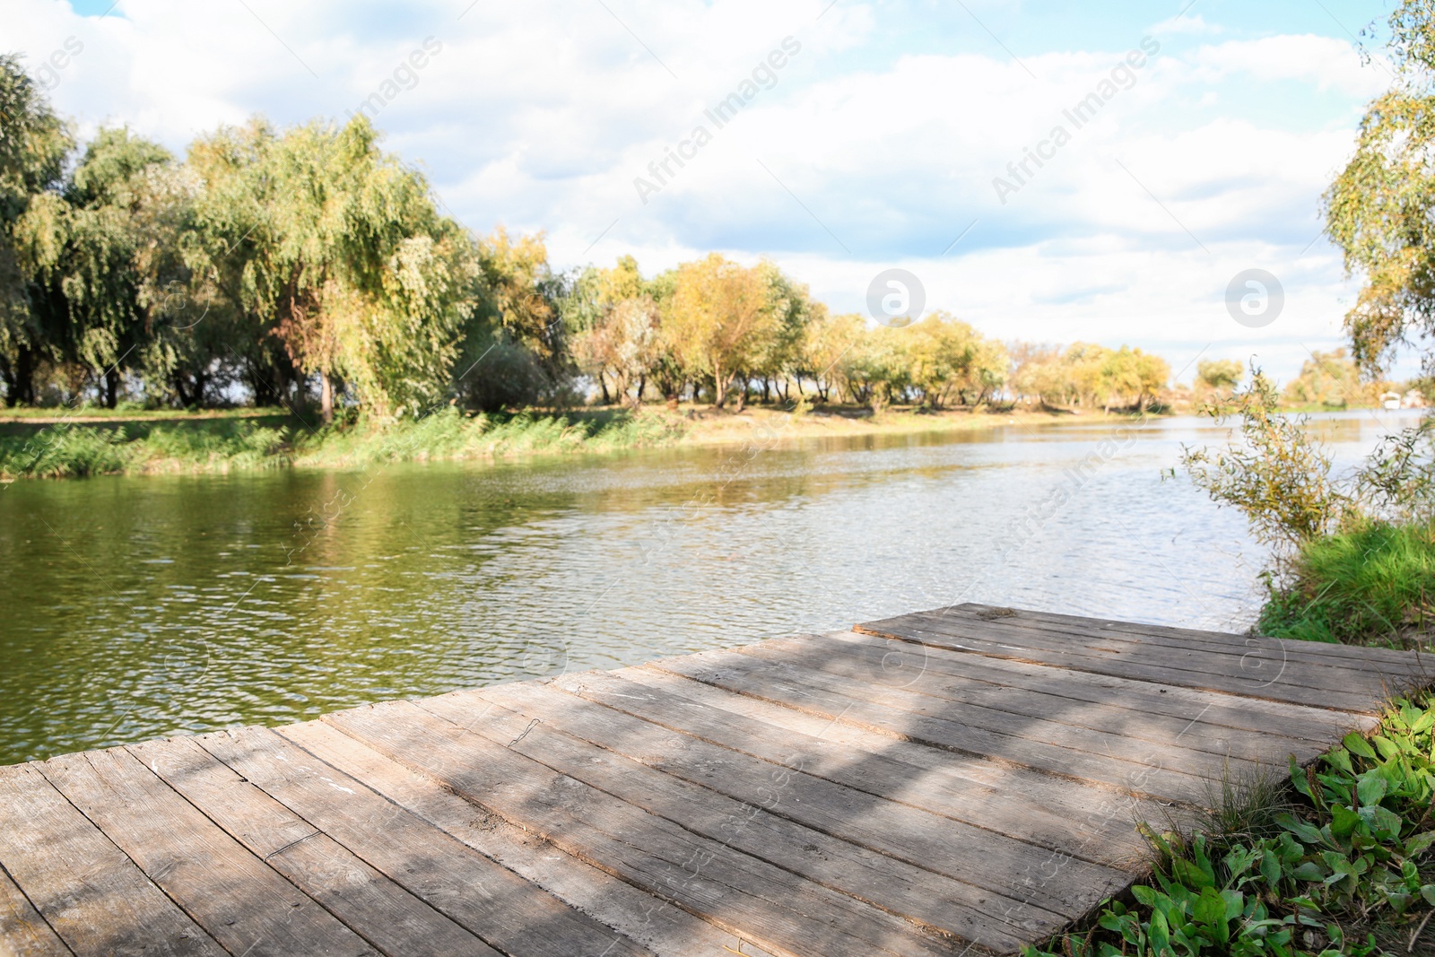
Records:
[[[959,605],[0,768],[0,953],[1012,953],[1415,654]]]

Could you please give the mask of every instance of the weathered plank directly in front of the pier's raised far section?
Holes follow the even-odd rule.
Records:
[[[1016,693],[1033,690],[1076,702],[1116,704],[1145,715],[1182,722],[1200,720],[1217,727],[1257,733],[1270,729],[1283,737],[1317,745],[1343,737],[1352,729],[1369,730],[1376,723],[1369,715],[1152,684],[1112,674],[986,657],[860,631],[828,631],[819,637],[862,646],[872,653],[880,651],[897,683],[901,683],[903,674],[931,669],[943,674],[1009,687]]]

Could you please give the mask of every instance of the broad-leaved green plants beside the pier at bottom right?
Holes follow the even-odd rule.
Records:
[[[1228,793],[1204,832],[1148,828],[1151,880],[1025,956],[1435,953],[1432,727],[1428,693],[1396,700],[1287,788]]]

